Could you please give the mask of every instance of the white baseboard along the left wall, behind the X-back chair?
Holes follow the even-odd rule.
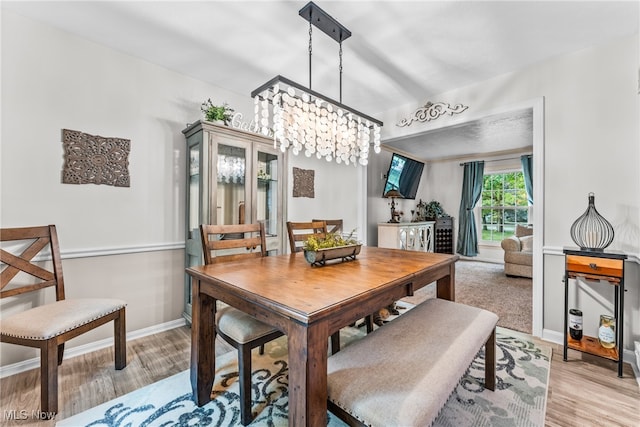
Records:
[[[137,331],[131,331],[127,333],[127,341],[132,341],[137,338],[146,337],[147,335],[157,334],[159,332],[168,331],[170,329],[179,328],[186,325],[184,318],[172,320],[170,322],[161,323],[159,325],[149,326],[148,328],[138,329]],[[64,350],[64,360],[72,357],[80,356],[82,354],[91,353],[92,351],[101,350],[103,348],[113,346],[113,337],[105,338],[103,340],[94,341],[91,343],[79,345]],[[8,377],[11,375],[19,374],[30,369],[40,368],[40,358],[35,357],[33,359],[24,360],[22,362],[12,363],[11,365],[0,367],[0,378]]]

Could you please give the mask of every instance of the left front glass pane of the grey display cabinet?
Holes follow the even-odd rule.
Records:
[[[216,168],[216,224],[246,224],[247,150],[243,147],[218,144]]]

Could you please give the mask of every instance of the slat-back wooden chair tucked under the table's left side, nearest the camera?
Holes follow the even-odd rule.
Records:
[[[216,264],[267,255],[263,223],[238,225],[200,225],[205,264]],[[240,237],[241,236],[241,237]],[[253,421],[251,411],[251,350],[283,333],[237,308],[226,306],[216,313],[216,331],[238,350],[240,418],[242,425]]]

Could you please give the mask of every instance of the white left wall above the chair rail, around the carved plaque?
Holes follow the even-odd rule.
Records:
[[[3,226],[56,223],[67,250],[183,242],[181,130],[250,102],[6,11],[2,82]],[[61,184],[63,128],[130,139],[131,187]]]

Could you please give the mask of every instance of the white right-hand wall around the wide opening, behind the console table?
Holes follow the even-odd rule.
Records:
[[[412,130],[424,132],[455,124],[464,120],[465,114],[479,116],[482,112],[544,97],[543,327],[550,337],[562,336],[559,326],[563,312],[562,283],[559,283],[563,275],[562,247],[573,245],[569,229],[586,209],[588,193],[594,192],[599,212],[616,229],[616,238],[609,249],[624,250],[631,255],[631,262],[626,264],[625,347],[631,348],[632,339],[640,338],[638,52],[638,35],[625,37],[523,71],[430,96],[432,101],[470,107],[456,117],[443,116],[435,122],[416,124]],[[396,123],[416,107],[407,105],[389,111],[382,119],[385,123]],[[407,129],[387,126],[384,131],[383,140],[401,136]],[[377,174],[379,170],[371,169],[370,173]],[[426,198],[444,199],[448,191],[458,195],[462,171],[459,174],[458,179],[450,177],[450,181],[435,184],[441,192],[437,194],[433,189]],[[587,310],[599,315],[603,308],[598,303],[593,307],[587,303]]]

